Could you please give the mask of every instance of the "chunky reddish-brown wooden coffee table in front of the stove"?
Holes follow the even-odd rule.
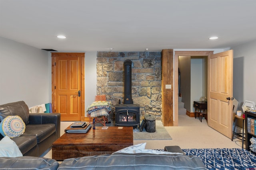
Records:
[[[52,159],[111,154],[133,145],[133,127],[92,128],[88,133],[64,133],[52,144]]]

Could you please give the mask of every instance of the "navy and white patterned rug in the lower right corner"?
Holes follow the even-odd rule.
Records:
[[[254,170],[256,155],[245,149],[182,149],[198,156],[209,170]]]

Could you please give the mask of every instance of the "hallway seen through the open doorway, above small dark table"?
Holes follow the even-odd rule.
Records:
[[[194,117],[194,101],[207,98],[207,57],[178,56],[178,115]]]

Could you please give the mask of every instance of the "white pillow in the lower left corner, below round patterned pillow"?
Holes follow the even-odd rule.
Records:
[[[19,147],[10,137],[5,136],[0,141],[0,157],[18,157],[23,156]]]

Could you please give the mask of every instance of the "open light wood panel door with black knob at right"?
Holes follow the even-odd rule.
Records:
[[[208,125],[230,139],[233,123],[232,97],[233,51],[208,56]]]

